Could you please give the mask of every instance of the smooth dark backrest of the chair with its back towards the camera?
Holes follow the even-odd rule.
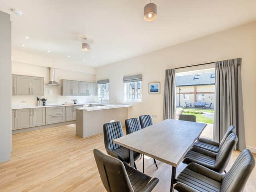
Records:
[[[124,164],[120,160],[97,149],[94,149],[93,153],[100,179],[108,192],[134,192]]]

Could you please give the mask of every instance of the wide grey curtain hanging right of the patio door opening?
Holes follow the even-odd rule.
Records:
[[[214,140],[220,142],[230,125],[236,128],[238,143],[236,149],[246,148],[244,136],[244,111],[241,82],[242,58],[215,63],[215,115]]]

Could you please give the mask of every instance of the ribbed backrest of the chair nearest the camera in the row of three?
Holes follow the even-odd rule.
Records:
[[[123,128],[119,121],[104,124],[103,134],[106,150],[116,150],[121,147],[113,142],[114,139],[124,136]]]

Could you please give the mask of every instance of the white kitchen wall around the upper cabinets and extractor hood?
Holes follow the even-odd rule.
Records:
[[[44,66],[12,62],[12,74],[44,77],[44,84],[50,81],[50,68]],[[96,77],[93,74],[55,69],[55,81],[60,83],[61,79],[88,82],[96,81]],[[74,98],[77,99],[78,102],[94,102],[95,96],[61,96],[60,86],[45,85],[44,88],[44,96],[40,96],[40,98],[47,98],[46,104],[62,104],[64,102],[71,103],[71,100]],[[36,96],[13,95],[12,106],[16,105],[36,105]]]

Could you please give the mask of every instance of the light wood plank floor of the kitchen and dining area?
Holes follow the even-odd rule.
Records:
[[[78,138],[75,124],[13,135],[12,160],[0,164],[0,192],[104,192],[94,148],[105,152],[102,134]],[[238,154],[232,154],[227,170]],[[136,161],[138,169],[141,162]],[[151,158],[145,159],[146,173],[160,180],[154,192],[169,191],[171,167],[157,163],[158,170]],[[244,191],[255,192],[255,181],[254,168]]]

